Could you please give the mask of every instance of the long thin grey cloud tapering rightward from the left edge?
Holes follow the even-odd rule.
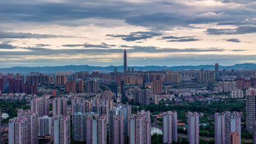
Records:
[[[56,37],[71,37],[62,35],[47,35],[36,33],[14,33],[0,31],[0,38],[56,38]]]

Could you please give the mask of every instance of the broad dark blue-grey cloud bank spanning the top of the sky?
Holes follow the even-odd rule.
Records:
[[[157,1],[151,3],[127,3],[125,1],[65,1],[64,3],[49,3],[29,1],[2,1],[0,17],[4,22],[55,22],[76,26],[76,22],[63,22],[65,20],[79,20],[86,18],[118,19],[125,20],[134,26],[145,26],[149,29],[163,30],[173,27],[191,27],[190,24],[207,24],[217,22],[245,22],[254,19],[255,12],[250,6],[241,8],[227,8],[219,10],[196,11],[196,6],[189,6],[184,1],[166,3]],[[222,1],[220,1],[222,2]],[[245,2],[245,1],[244,1]],[[248,1],[253,2],[253,1]],[[230,3],[230,1],[226,2]],[[232,1],[241,3],[241,1]],[[252,4],[251,4],[252,5]],[[170,10],[168,10],[170,8]],[[150,9],[153,9],[152,11]],[[191,10],[184,12],[184,10]],[[150,10],[150,11],[149,11]],[[14,20],[14,21],[13,21]],[[58,23],[60,22],[60,23]],[[83,24],[80,24],[83,25]],[[84,24],[86,25],[86,24]],[[126,41],[134,41],[134,38],[124,38]],[[135,39],[136,40],[136,39]]]

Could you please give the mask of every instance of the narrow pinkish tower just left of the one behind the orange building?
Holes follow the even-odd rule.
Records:
[[[225,113],[215,113],[214,134],[216,144],[225,144]]]

